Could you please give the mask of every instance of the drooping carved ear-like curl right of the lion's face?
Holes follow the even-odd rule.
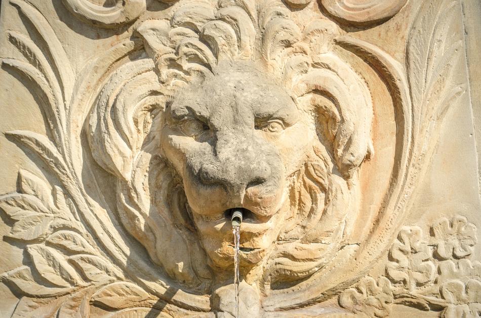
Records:
[[[331,53],[319,55],[314,66],[301,76],[295,93],[328,118],[332,153],[348,179],[373,154],[371,94],[364,79]]]

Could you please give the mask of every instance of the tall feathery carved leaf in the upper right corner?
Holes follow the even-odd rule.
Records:
[[[406,59],[413,105],[413,167],[425,170],[447,112],[466,91],[459,76],[463,62],[460,3],[423,2],[409,33]],[[445,27],[440,27],[444,25]],[[418,177],[419,178],[419,177]]]

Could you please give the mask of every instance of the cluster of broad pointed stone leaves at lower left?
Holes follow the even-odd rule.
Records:
[[[9,237],[26,244],[33,268],[6,272],[3,281],[31,297],[52,297],[124,278],[77,220],[74,203],[60,187],[52,189],[24,170],[18,185],[18,192],[0,196],[0,208],[14,220]]]

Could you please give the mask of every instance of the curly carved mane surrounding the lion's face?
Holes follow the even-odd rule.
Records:
[[[223,61],[260,61],[314,118],[319,140],[289,177],[290,216],[264,262],[264,282],[309,276],[339,252],[350,233],[346,217],[358,210],[358,168],[372,154],[371,96],[333,49],[338,26],[319,16],[301,27],[280,0],[248,3],[186,0],[140,21],[144,52],[105,80],[88,124],[94,159],[117,179],[123,225],[190,287],[209,282],[211,268],[182,180],[159,147],[165,105],[180,87]]]

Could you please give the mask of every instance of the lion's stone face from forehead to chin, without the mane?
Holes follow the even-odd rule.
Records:
[[[287,212],[288,177],[315,132],[261,68],[225,65],[168,104],[161,145],[181,176],[202,244],[218,266],[233,261],[229,210],[244,208],[241,259],[257,263]]]

